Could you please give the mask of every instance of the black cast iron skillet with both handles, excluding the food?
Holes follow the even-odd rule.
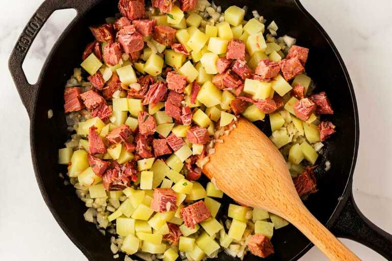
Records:
[[[88,27],[104,23],[104,18],[117,10],[117,0],[46,0],[33,15],[12,51],[9,68],[23,105],[30,117],[31,153],[34,170],[42,196],[53,216],[89,260],[112,260],[109,237],[83,218],[86,207],[72,186],[64,186],[58,173],[65,168],[57,164],[57,150],[63,147],[69,134],[63,109],[64,84],[74,67],[81,62],[86,44],[92,41]],[[323,159],[332,163],[325,173],[317,171],[320,191],[305,202],[309,210],[336,236],[362,243],[388,260],[392,260],[392,236],[366,219],[356,206],[352,195],[352,175],[359,142],[358,111],[354,90],[347,69],[334,44],[320,24],[304,9],[299,0],[224,1],[217,0],[223,10],[232,4],[247,5],[279,25],[279,33],[298,39],[298,44],[310,48],[306,71],[317,85],[316,91],[326,91],[335,114],[331,119],[337,133],[326,143]],[[22,62],[35,36],[46,19],[58,9],[74,8],[77,17],[61,35],[46,59],[38,82],[30,85],[22,70]],[[251,12],[248,12],[248,16]],[[249,18],[249,17],[248,17]],[[52,109],[54,116],[47,118]],[[267,132],[267,123],[259,127]],[[228,200],[226,200],[227,203]],[[225,202],[224,202],[225,203]],[[275,232],[276,253],[266,260],[297,260],[312,244],[295,227],[289,225]],[[234,260],[225,254],[219,260]],[[245,260],[258,260],[247,255]]]

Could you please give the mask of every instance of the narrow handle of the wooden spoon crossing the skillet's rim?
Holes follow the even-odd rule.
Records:
[[[295,225],[315,246],[318,247],[332,261],[358,261],[361,260],[343,245],[323,224],[321,224],[304,206],[298,208],[296,219],[289,220]]]

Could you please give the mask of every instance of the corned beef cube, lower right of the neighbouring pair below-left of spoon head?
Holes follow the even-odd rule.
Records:
[[[185,225],[193,229],[195,224],[198,224],[211,217],[211,212],[208,210],[204,202],[200,200],[182,208],[180,216],[184,220]]]

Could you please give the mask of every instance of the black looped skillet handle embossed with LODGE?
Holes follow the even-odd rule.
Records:
[[[24,107],[26,107],[30,117],[32,116],[34,105],[36,103],[38,85],[41,79],[42,71],[37,83],[31,85],[27,81],[26,75],[23,72],[22,64],[35,37],[43,27],[46,20],[54,11],[69,8],[75,9],[77,11],[77,15],[74,19],[75,21],[83,16],[83,14],[89,8],[91,8],[93,3],[97,2],[99,2],[99,0],[45,0],[30,18],[26,27],[24,27],[22,34],[19,36],[19,39],[16,42],[14,49],[12,50],[10,59],[8,61],[8,67],[22,103]]]

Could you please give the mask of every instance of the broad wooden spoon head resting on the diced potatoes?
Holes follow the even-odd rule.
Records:
[[[282,154],[259,128],[244,118],[236,122],[203,172],[234,200],[288,218],[302,204]]]

